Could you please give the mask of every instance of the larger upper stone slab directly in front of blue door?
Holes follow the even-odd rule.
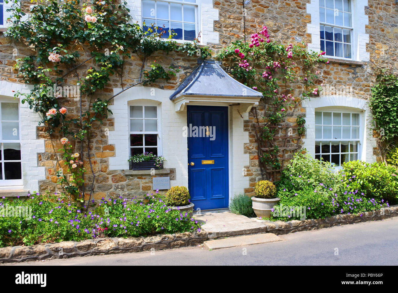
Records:
[[[194,216],[199,222],[205,223],[202,228],[210,239],[267,232],[264,223],[233,214],[229,210],[202,212]]]

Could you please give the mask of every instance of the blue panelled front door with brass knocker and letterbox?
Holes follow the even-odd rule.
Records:
[[[228,107],[187,106],[188,187],[195,209],[228,207]]]

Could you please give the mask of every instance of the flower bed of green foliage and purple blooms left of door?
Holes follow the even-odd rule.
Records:
[[[0,247],[201,230],[187,213],[171,210],[153,195],[144,201],[103,200],[87,213],[66,200],[62,195],[39,193],[27,201],[0,199]]]

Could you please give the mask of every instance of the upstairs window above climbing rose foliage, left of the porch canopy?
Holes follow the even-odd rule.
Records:
[[[152,28],[168,38],[170,29],[176,33],[173,39],[193,41],[197,37],[197,0],[142,1],[144,30]]]

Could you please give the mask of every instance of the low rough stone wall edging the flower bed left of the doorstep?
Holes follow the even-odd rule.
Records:
[[[150,237],[97,238],[80,242],[64,241],[33,246],[8,246],[0,248],[0,263],[179,248],[200,244],[206,240],[206,232],[184,232]]]

